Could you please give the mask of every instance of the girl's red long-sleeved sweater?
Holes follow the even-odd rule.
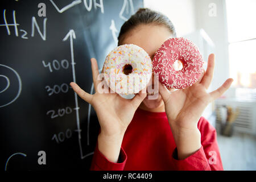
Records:
[[[138,109],[123,137],[118,163],[94,151],[91,170],[223,170],[216,130],[199,119],[201,148],[183,160],[177,150],[166,113]]]

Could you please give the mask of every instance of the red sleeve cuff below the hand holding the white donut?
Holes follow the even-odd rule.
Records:
[[[90,170],[92,171],[122,171],[125,167],[127,155],[121,147],[118,163],[109,161],[99,150],[98,144],[94,150],[92,164]]]

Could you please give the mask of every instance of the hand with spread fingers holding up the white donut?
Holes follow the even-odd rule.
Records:
[[[131,122],[131,119],[133,119],[135,111],[138,109],[139,105],[147,95],[146,90],[144,90],[143,93],[140,92],[136,94],[136,96],[131,100],[122,98],[117,93],[99,93],[97,91],[97,86],[98,84],[100,84],[101,80],[97,79],[99,75],[97,60],[92,58],[91,63],[95,93],[86,93],[75,82],[71,82],[70,85],[72,86],[73,90],[83,100],[91,104],[96,111],[98,121],[101,127],[100,135],[103,136],[103,138],[101,137],[102,140],[104,140],[105,143],[119,140],[118,146],[121,146],[122,137],[125,134],[125,131]],[[100,150],[99,140],[100,139],[98,138],[98,147]],[[110,146],[111,144],[109,144],[109,147]]]

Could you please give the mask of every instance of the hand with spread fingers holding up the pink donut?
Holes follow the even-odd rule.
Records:
[[[228,78],[218,89],[210,93],[207,92],[213,78],[214,61],[214,54],[209,55],[207,71],[199,81],[188,88],[170,92],[165,86],[159,84],[159,93],[164,101],[168,122],[177,145],[178,156],[179,148],[181,152],[184,151],[187,155],[195,152],[196,148],[197,150],[200,148],[201,143],[198,140],[198,138],[200,139],[200,131],[197,129],[197,123],[201,114],[205,107],[228,90],[233,82],[232,78]],[[195,140],[197,141],[194,142]],[[193,144],[195,145],[193,146]],[[191,150],[187,150],[187,148],[191,148]]]

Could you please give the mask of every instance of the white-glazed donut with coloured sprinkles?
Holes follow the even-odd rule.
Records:
[[[150,81],[152,61],[148,53],[134,44],[118,46],[106,56],[103,66],[106,84],[115,93],[139,93]]]

